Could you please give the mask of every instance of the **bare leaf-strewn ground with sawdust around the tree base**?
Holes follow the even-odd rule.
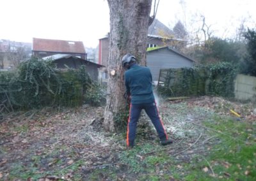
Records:
[[[179,101],[164,101],[159,110],[168,135],[174,143],[161,147],[156,132],[136,138],[136,147],[145,143],[154,145],[138,154],[139,159],[166,152],[178,162],[189,163],[200,154],[207,155],[218,144],[218,135],[209,134],[202,126],[204,120],[211,120],[218,113],[233,117],[223,104],[243,115],[244,120],[253,120],[255,107],[239,105],[221,98],[201,97]],[[126,150],[125,134],[108,134],[102,129],[104,107],[75,109],[33,110],[10,113],[1,122],[0,173],[5,180],[20,178],[38,179],[56,175],[65,179],[88,179],[95,169],[113,167],[118,178],[136,177],[129,174],[129,166],[120,158]],[[141,116],[141,119],[148,119]],[[236,119],[236,117],[234,117]],[[148,120],[149,121],[149,120]],[[202,158],[200,158],[202,159]],[[168,173],[168,169],[164,170]],[[102,179],[106,177],[104,173]],[[75,179],[76,180],[76,179]],[[129,180],[129,179],[128,179]]]

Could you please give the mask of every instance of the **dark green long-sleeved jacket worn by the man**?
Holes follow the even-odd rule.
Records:
[[[131,68],[125,71],[124,80],[132,104],[154,103],[152,75],[149,68],[132,64]]]

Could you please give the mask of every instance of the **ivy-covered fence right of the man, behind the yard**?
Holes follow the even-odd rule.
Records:
[[[229,62],[193,68],[161,69],[158,91],[165,96],[218,95],[234,97],[236,69]]]

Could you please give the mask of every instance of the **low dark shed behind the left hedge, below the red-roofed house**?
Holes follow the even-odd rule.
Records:
[[[81,59],[76,57],[75,55],[70,54],[56,54],[48,57],[42,58],[44,60],[52,59],[56,64],[57,68],[65,69],[65,68],[79,68],[79,66],[86,66],[86,71],[91,76],[91,78],[95,81],[98,80],[99,71],[98,69],[102,67],[100,64],[96,64],[94,62],[86,61],[85,59]]]

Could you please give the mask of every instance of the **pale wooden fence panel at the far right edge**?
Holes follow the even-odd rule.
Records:
[[[235,80],[235,96],[239,100],[248,100],[256,97],[256,77],[237,75]]]

